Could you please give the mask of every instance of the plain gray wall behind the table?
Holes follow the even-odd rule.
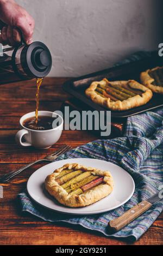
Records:
[[[51,50],[49,76],[79,76],[162,42],[162,0],[16,0]]]

